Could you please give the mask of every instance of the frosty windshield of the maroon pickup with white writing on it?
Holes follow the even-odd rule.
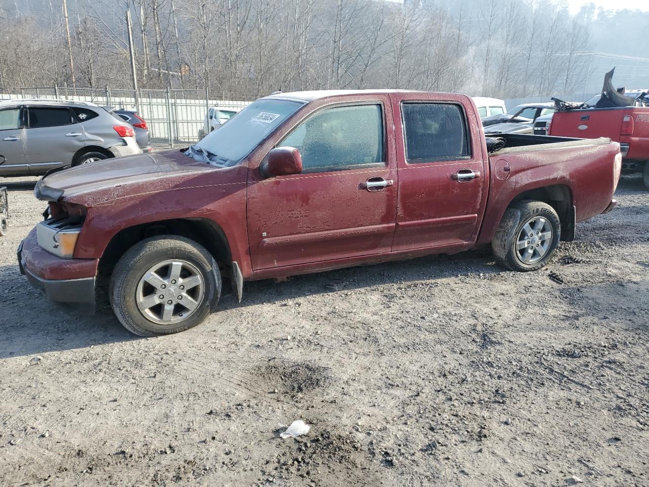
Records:
[[[302,105],[276,99],[253,101],[228,123],[192,145],[185,155],[207,164],[234,166]]]

